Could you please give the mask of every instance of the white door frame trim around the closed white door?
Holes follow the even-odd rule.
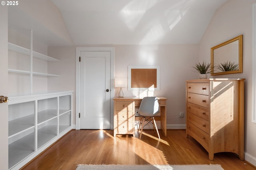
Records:
[[[114,129],[114,47],[76,47],[76,130],[80,130],[80,52],[81,51],[110,51],[110,129]]]

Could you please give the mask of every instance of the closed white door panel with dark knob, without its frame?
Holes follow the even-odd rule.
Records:
[[[110,129],[110,51],[80,51],[80,129]]]

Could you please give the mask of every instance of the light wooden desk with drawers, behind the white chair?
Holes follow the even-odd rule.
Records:
[[[160,116],[155,117],[156,121],[161,121],[161,129],[166,136],[166,100],[165,97],[157,97]],[[114,97],[114,136],[116,134],[132,134],[135,135],[135,108],[140,107],[142,101],[138,97]]]

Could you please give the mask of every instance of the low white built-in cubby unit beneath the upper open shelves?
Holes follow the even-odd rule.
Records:
[[[9,169],[18,169],[71,130],[72,91],[10,97]]]

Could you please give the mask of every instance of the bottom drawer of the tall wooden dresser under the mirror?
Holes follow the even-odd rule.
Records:
[[[188,134],[195,138],[203,146],[209,147],[209,134],[196,127],[192,123],[188,122],[187,125]],[[206,149],[207,150],[207,149]]]

